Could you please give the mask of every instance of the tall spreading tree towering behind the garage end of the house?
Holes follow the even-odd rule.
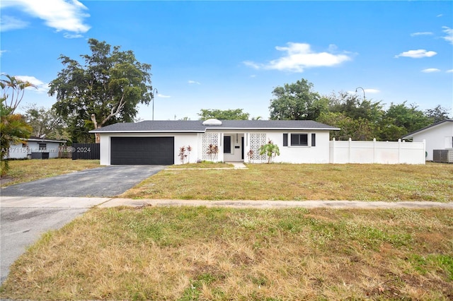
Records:
[[[53,106],[68,124],[74,142],[89,140],[88,131],[115,122],[132,122],[139,103],[152,100],[151,65],[134,52],[120,51],[106,42],[89,39],[91,54],[83,62],[62,55],[64,69],[50,83]],[[96,136],[96,142],[98,136]]]

